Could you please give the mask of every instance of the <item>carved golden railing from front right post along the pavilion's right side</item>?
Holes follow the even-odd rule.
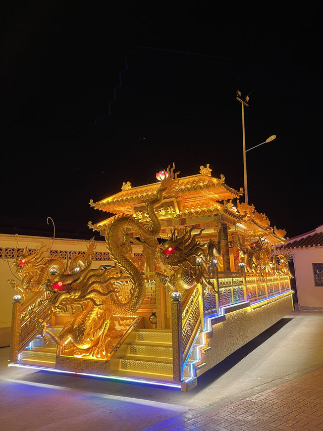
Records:
[[[270,299],[290,290],[288,275],[215,271],[211,277],[214,292],[197,284],[184,292],[181,300],[172,300],[172,340],[174,381],[182,381],[184,365],[205,319],[219,314],[221,307]]]

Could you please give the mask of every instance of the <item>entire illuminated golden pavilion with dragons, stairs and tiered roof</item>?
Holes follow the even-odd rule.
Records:
[[[94,209],[105,238],[62,261],[48,248],[14,262],[10,366],[188,391],[199,375],[293,310],[286,232],[240,203],[209,165],[132,187]],[[22,299],[24,302],[22,302]]]

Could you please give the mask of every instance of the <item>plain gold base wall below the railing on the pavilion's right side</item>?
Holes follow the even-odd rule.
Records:
[[[251,309],[249,306],[225,314],[225,321],[212,326],[210,349],[202,353],[202,362],[206,365],[197,370],[197,376],[219,364],[293,309],[292,295],[288,295],[262,307]]]

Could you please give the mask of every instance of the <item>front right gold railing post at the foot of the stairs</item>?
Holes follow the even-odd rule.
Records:
[[[183,333],[182,333],[182,303],[172,297],[172,342],[173,342],[173,378],[174,381],[184,379],[183,369]]]

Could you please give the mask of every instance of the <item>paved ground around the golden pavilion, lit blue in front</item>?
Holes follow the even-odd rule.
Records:
[[[293,312],[188,393],[4,366],[3,431],[323,431],[323,313]]]

